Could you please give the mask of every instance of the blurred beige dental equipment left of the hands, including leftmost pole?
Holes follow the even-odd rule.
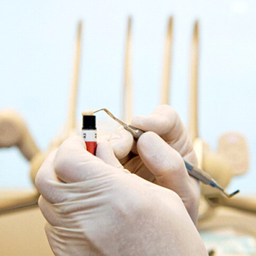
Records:
[[[63,140],[76,134],[76,101],[80,63],[82,23],[78,24],[75,44],[75,61],[71,83],[66,125],[59,136],[53,139],[47,152],[41,152],[36,146],[22,117],[12,110],[0,112],[0,147],[19,147],[23,156],[31,163],[31,179],[47,155],[56,149]],[[53,255],[44,233],[45,220],[37,206],[38,191],[1,190],[0,194],[1,240],[0,255]]]

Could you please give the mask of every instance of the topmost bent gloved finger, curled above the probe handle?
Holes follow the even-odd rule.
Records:
[[[156,107],[151,115],[134,117],[131,124],[142,131],[157,133],[181,156],[193,150],[179,115],[168,105]]]

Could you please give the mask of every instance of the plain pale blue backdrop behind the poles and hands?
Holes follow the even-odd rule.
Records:
[[[255,193],[255,1],[1,1],[0,109],[19,111],[41,150],[66,120],[77,22],[83,47],[77,119],[85,109],[122,113],[127,16],[132,15],[134,115],[160,102],[163,41],[173,15],[171,105],[188,121],[189,45],[200,22],[199,134],[216,150],[221,134],[242,133],[250,170],[230,190]],[[113,94],[114,92],[114,94]],[[54,110],[53,110],[54,109]],[[0,149],[0,187],[29,188],[29,163]]]

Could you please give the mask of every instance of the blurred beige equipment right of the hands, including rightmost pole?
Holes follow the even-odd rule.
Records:
[[[199,167],[208,172],[222,187],[226,188],[234,176],[242,175],[248,170],[248,145],[241,134],[227,132],[218,141],[218,151],[212,152],[208,145],[199,138],[197,106],[198,53],[199,23],[196,21],[190,50],[189,134],[194,142]],[[209,246],[212,246],[212,248],[208,248],[213,249],[211,255],[255,255],[254,253],[246,254],[241,249],[246,247],[244,246],[246,242],[250,242],[254,246],[251,248],[251,252],[255,250],[255,213],[256,195],[236,195],[233,198],[226,198],[220,191],[202,184],[198,230],[202,233],[203,238],[207,237],[208,234],[204,242],[206,242],[206,245],[208,242]],[[230,254],[222,254],[220,240],[226,241],[226,250],[228,250],[228,241],[232,240],[233,249],[231,246]],[[241,251],[235,248],[234,244],[237,244],[237,247],[240,246]],[[244,250],[246,251],[246,249]],[[256,251],[254,252],[256,253]]]

